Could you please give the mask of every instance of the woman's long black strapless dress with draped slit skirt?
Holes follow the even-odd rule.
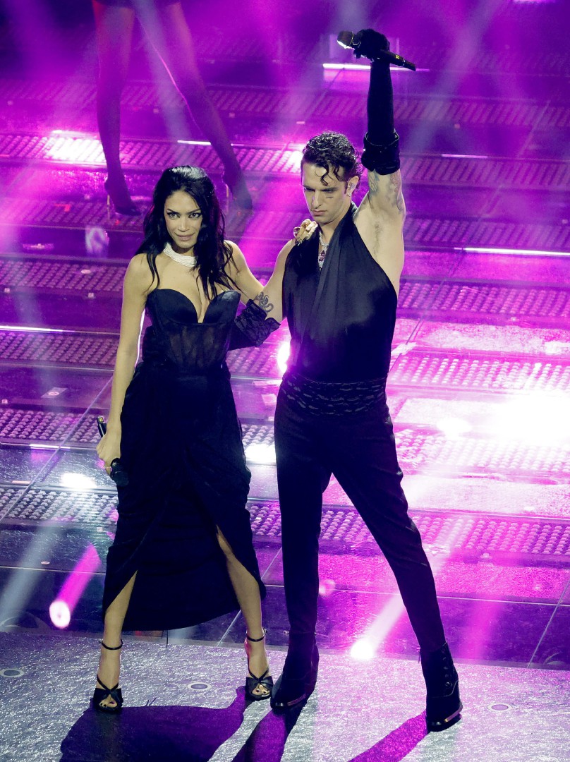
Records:
[[[203,322],[184,294],[155,289],[142,362],[121,415],[117,534],[107,555],[103,613],[134,572],[125,629],[175,629],[238,608],[222,531],[261,582],[245,507],[250,472],[226,367],[239,304],[219,293]]]

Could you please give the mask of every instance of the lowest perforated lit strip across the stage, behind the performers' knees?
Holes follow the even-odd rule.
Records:
[[[4,488],[2,526],[65,524],[112,527],[117,497],[113,491],[30,488],[21,495]],[[14,498],[18,498],[14,504]],[[280,512],[275,502],[250,501],[251,527],[258,541],[280,544]],[[533,517],[411,511],[427,549],[445,556],[485,562],[570,565],[570,522]],[[325,506],[320,541],[328,552],[379,553],[360,516],[351,507]]]

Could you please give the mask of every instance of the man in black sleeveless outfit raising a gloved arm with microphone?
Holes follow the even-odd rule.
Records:
[[[388,40],[359,33],[373,59]],[[427,686],[427,729],[460,719],[457,673],[444,636],[429,562],[408,517],[386,406],[386,375],[404,262],[405,205],[394,130],[389,64],[373,60],[362,165],[369,191],[351,197],[363,169],[346,136],[325,132],[307,143],[303,193],[314,223],[280,251],[267,287],[242,318],[258,341],[283,317],[291,354],[275,413],[283,578],[290,639],[271,705],[285,710],[315,687],[322,492],[335,474],[386,556],[420,644]]]

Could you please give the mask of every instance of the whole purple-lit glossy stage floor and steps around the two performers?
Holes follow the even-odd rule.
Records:
[[[184,631],[129,633],[122,716],[88,710],[116,518],[114,485],[94,451],[95,416],[108,410],[121,283],[141,219],[105,204],[89,8],[44,5],[53,28],[41,40],[37,28],[19,34],[18,18],[0,14],[0,759],[567,759],[570,54],[562,4],[482,2],[460,33],[434,26],[421,0],[405,11],[371,3],[367,18],[354,20],[403,34],[402,52],[418,63],[415,74],[393,77],[408,254],[389,405],[465,704],[458,725],[428,736],[417,643],[395,581],[334,479],[321,538],[322,671],[299,716],[245,704],[237,613]],[[252,214],[229,205],[229,238],[264,279],[306,216],[300,149],[324,129],[360,145],[368,75],[339,68],[354,61],[335,34],[331,43],[337,21],[326,27],[325,0],[310,24],[300,2],[281,11],[271,46],[243,21],[224,28],[223,0],[210,5],[194,18],[200,66],[255,205]],[[411,11],[415,24],[402,17]],[[349,23],[343,16],[338,28]],[[38,62],[46,39],[50,56]],[[440,45],[453,46],[447,62]],[[141,208],[160,171],[176,163],[203,165],[223,194],[219,159],[141,36],[123,136]],[[229,357],[274,674],[288,628],[272,425],[286,354],[283,326],[261,349]]]

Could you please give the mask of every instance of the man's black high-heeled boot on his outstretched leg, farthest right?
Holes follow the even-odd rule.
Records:
[[[420,650],[421,671],[427,688],[425,722],[427,731],[447,730],[461,719],[463,704],[460,684],[450,648],[444,643],[437,651]]]

